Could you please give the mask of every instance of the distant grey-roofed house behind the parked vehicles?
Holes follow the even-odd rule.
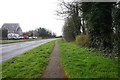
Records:
[[[18,23],[4,23],[2,28],[7,29],[8,34],[15,33],[15,34],[22,35],[22,29]]]

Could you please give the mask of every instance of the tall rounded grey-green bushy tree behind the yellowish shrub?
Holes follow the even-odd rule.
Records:
[[[71,13],[66,18],[63,26],[63,35],[66,41],[73,41],[81,33],[78,3],[71,4]]]

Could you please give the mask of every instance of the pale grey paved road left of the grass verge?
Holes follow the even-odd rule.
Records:
[[[19,42],[19,43],[10,43],[10,44],[0,44],[0,63],[5,62],[6,60],[25,53],[28,50],[31,50],[37,46],[45,44],[47,42],[56,40],[54,39],[44,39],[44,40],[34,40],[29,42]]]

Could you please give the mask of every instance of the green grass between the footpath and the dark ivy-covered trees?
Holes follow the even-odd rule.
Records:
[[[118,62],[73,43],[58,41],[68,78],[118,78]]]

